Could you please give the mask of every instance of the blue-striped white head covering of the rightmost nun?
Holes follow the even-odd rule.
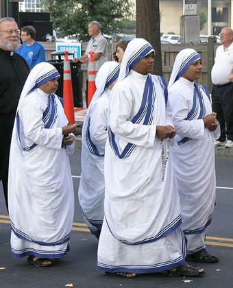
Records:
[[[186,72],[188,67],[199,59],[201,59],[201,56],[194,49],[187,48],[180,51],[175,57],[168,88],[171,88],[175,81]]]

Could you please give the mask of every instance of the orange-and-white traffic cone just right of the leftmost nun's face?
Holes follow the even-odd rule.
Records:
[[[64,98],[64,114],[69,124],[75,124],[75,112],[73,108],[73,88],[71,80],[71,63],[68,58],[68,51],[64,52],[64,82],[63,82],[63,98]]]

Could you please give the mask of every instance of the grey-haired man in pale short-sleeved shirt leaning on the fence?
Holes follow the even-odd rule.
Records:
[[[97,21],[92,21],[88,24],[88,34],[91,38],[88,41],[85,54],[82,57],[74,58],[73,62],[88,62],[89,52],[93,51],[95,70],[99,71],[101,65],[108,61],[107,40],[101,35],[101,24]]]

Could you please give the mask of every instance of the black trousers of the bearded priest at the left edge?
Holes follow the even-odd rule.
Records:
[[[8,208],[8,167],[10,155],[10,141],[14,126],[14,113],[0,115],[0,181],[3,183],[5,204]]]

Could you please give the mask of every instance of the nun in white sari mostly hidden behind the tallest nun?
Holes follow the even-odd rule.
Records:
[[[120,65],[109,61],[97,74],[93,96],[82,128],[82,175],[79,204],[90,232],[99,239],[104,216],[104,150],[108,136],[110,91],[119,75]]]

